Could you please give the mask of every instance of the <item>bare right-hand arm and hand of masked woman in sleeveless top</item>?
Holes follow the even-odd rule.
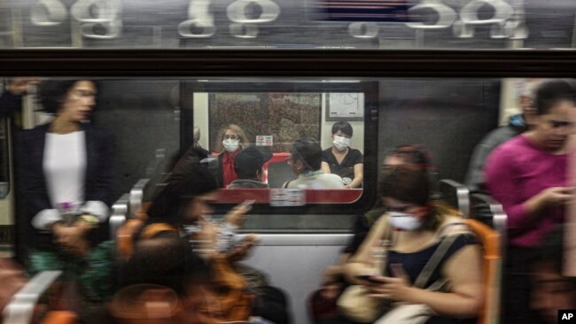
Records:
[[[372,297],[410,304],[428,305],[434,312],[451,317],[473,317],[482,305],[481,257],[478,245],[466,245],[448,259],[442,269],[450,282],[449,292],[411,286],[400,265],[392,265],[394,277],[376,276],[370,285]]]

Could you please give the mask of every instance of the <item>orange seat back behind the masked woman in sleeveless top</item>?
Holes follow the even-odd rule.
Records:
[[[482,287],[484,305],[479,314],[479,324],[500,322],[500,296],[502,279],[502,236],[479,220],[468,219],[466,223],[482,244]]]

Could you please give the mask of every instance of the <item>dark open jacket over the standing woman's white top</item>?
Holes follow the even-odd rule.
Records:
[[[112,204],[113,141],[112,136],[90,124],[81,124],[86,137],[86,175],[84,177],[84,201],[97,200],[108,206]],[[50,124],[22,132],[18,143],[19,191],[26,208],[29,243],[36,248],[52,246],[51,233],[32,228],[31,220],[36,213],[51,209],[50,197],[43,172],[44,144]],[[107,222],[90,233],[90,241],[97,243],[107,239]]]

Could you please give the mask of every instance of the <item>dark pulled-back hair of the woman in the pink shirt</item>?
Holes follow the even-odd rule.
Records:
[[[548,114],[561,101],[576,104],[576,82],[572,79],[553,79],[544,81],[536,89],[534,107],[539,115]]]

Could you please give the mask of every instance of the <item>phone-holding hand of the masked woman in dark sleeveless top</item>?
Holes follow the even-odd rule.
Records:
[[[390,299],[398,302],[409,302],[416,288],[412,287],[408,275],[401,265],[391,265],[393,277],[381,275],[370,277],[371,297]]]

